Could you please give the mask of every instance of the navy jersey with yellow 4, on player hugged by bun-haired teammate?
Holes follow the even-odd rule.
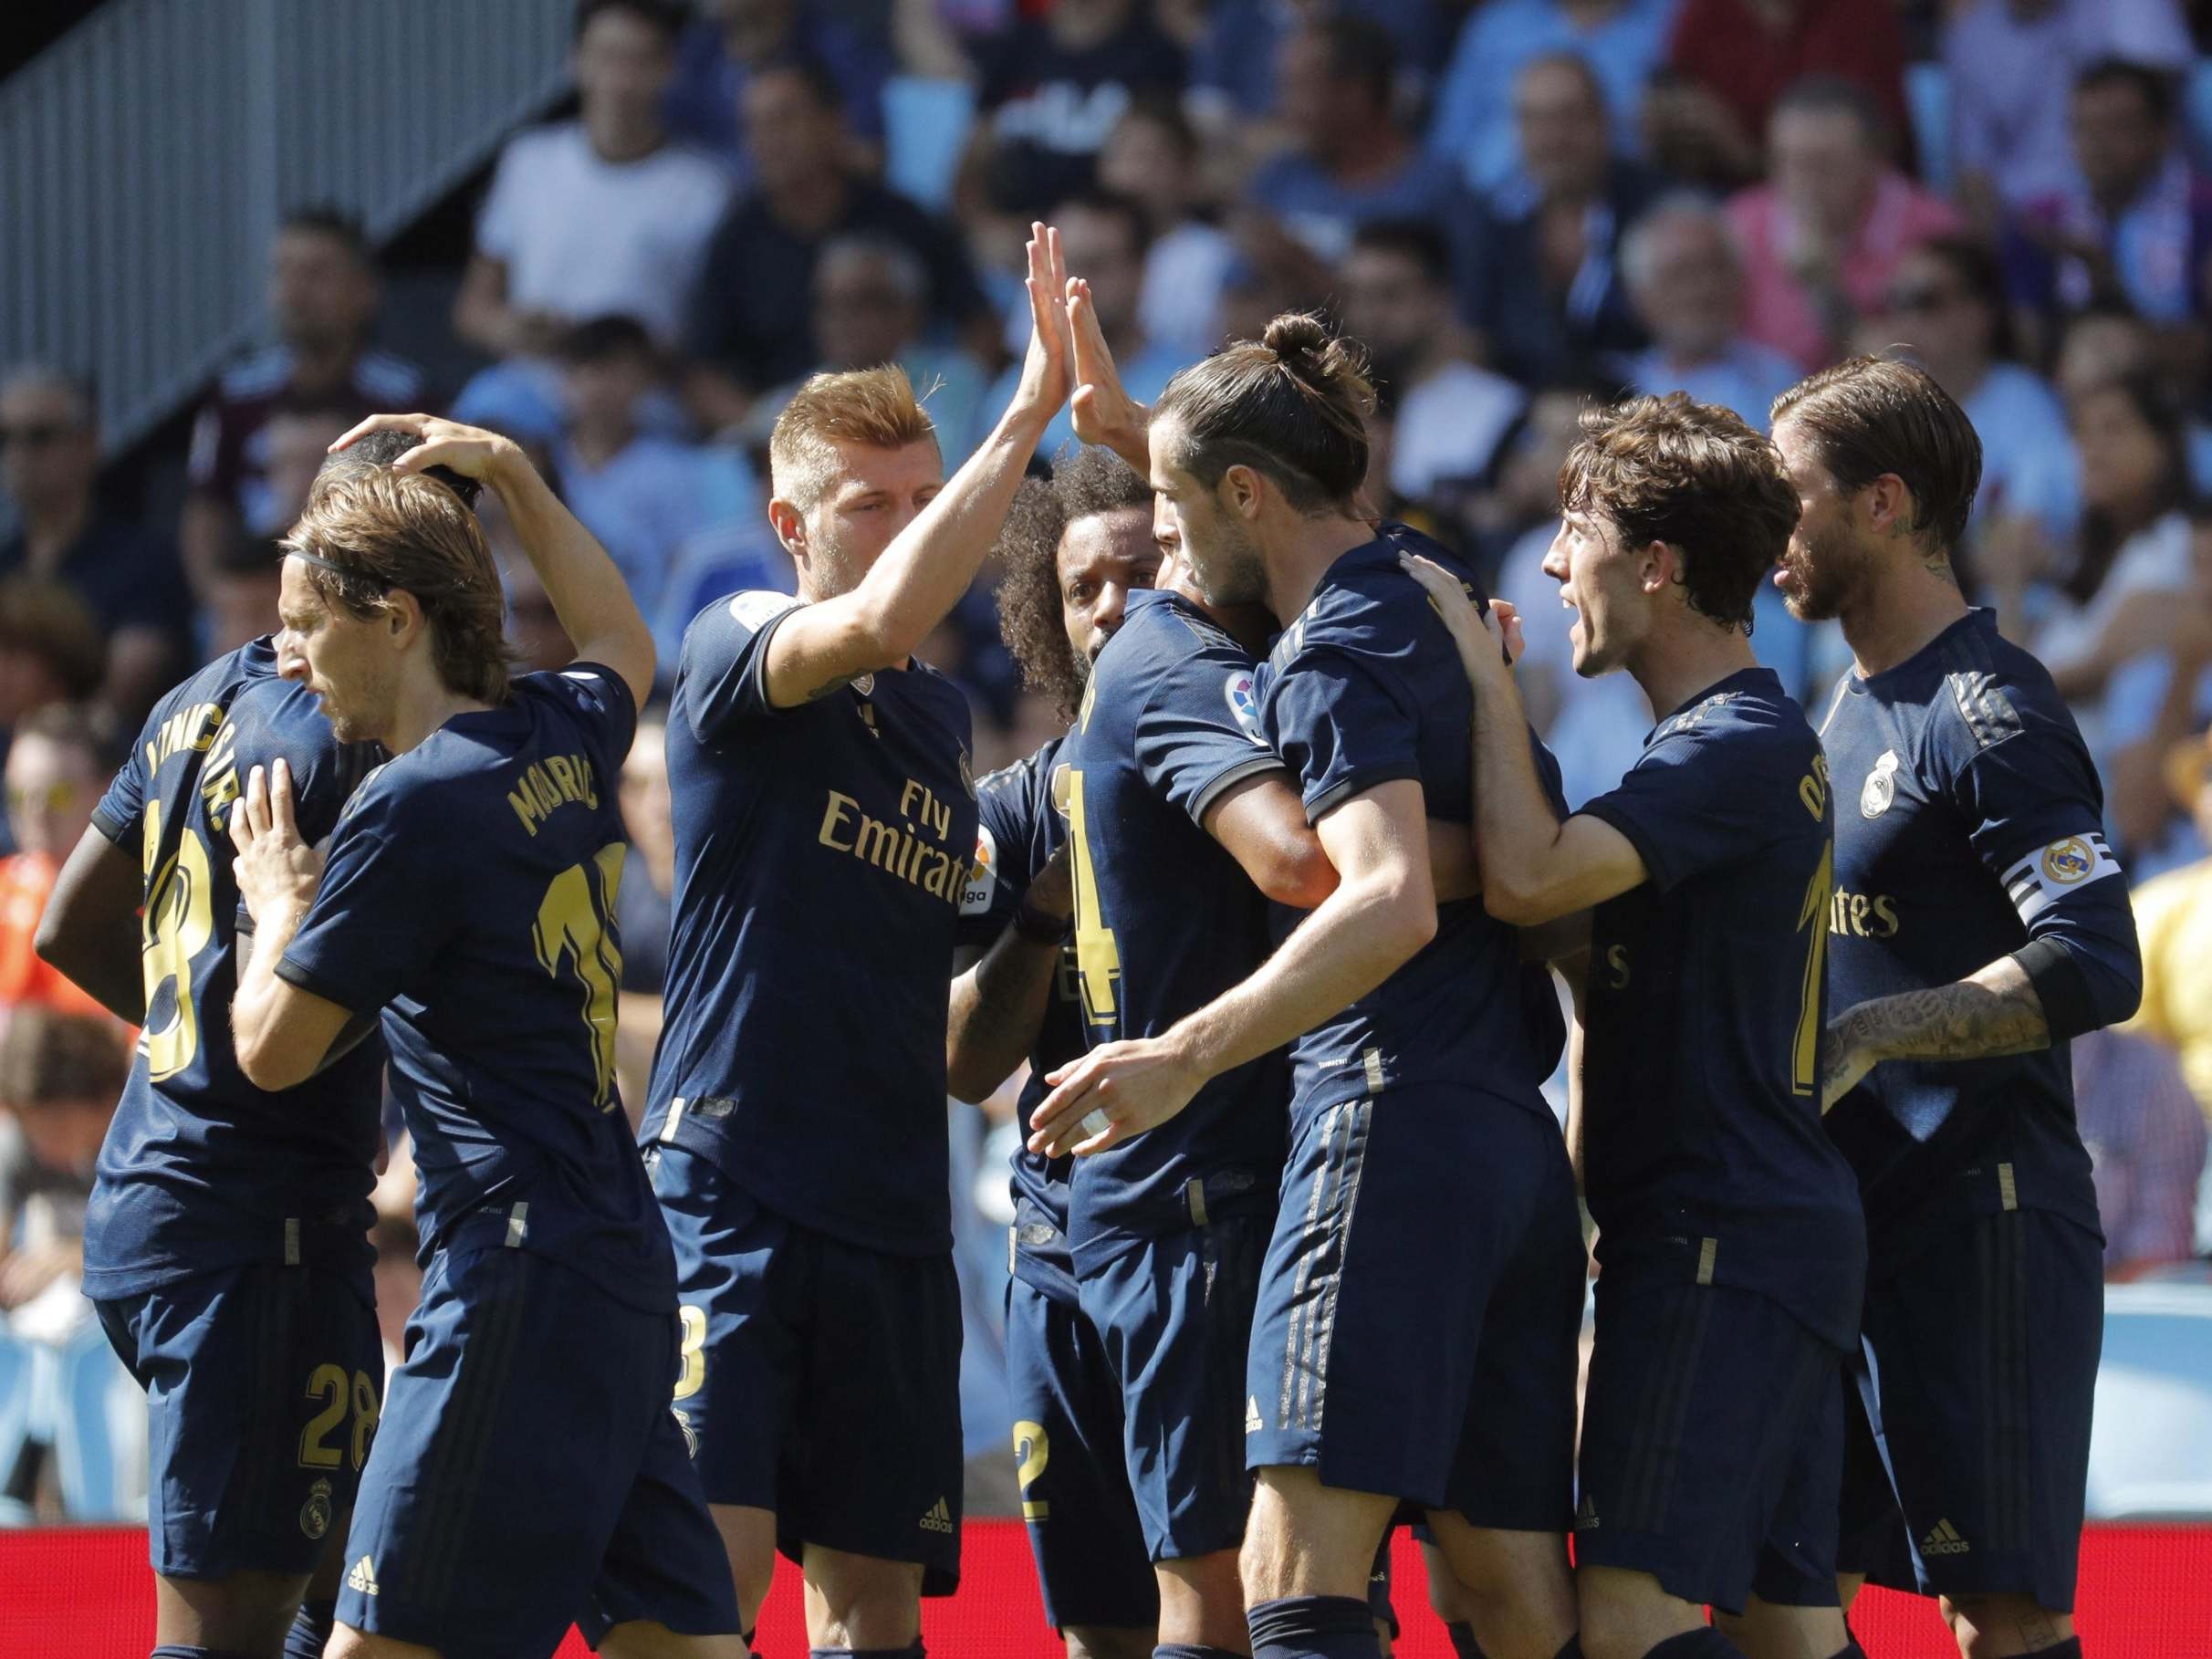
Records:
[[[1084,1026],[1091,1042],[1157,1037],[1267,956],[1267,900],[1199,827],[1232,783],[1283,765],[1252,714],[1252,657],[1175,593],[1128,595],[1064,759]],[[1272,1199],[1287,1102],[1283,1055],[1265,1055],[1210,1077],[1159,1128],[1082,1159],[1068,1197],[1077,1261],[1102,1237]]]

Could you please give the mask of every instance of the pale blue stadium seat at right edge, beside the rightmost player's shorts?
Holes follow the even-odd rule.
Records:
[[[2090,1520],[2212,1520],[2212,1285],[2112,1285]]]

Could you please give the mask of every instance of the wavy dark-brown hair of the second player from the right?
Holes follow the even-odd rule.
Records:
[[[1790,546],[1798,498],[1774,445],[1688,392],[1582,411],[1559,504],[1601,513],[1630,549],[1681,549],[1690,608],[1750,633],[1752,595]]]

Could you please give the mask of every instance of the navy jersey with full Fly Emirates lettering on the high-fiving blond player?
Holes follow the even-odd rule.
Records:
[[[644,1139],[867,1250],[951,1248],[945,1006],[975,852],[967,699],[920,664],[772,708],[799,602],[684,635],[668,719],[677,891]]]

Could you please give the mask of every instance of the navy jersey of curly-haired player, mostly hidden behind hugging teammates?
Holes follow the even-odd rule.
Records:
[[[1066,737],[1055,737],[1026,761],[1000,768],[975,781],[975,865],[960,894],[960,942],[989,949],[1006,931],[1013,914],[1022,907],[1022,894],[1037,872],[1053,860],[1068,838],[1068,818],[1053,799],[1053,776],[1060,774],[1066,787],[1066,770],[1060,765],[1060,750]],[[1015,1121],[1026,1137],[1029,1115],[1053,1093],[1044,1077],[1068,1064],[1084,1051],[1084,1015],[1075,1000],[1075,936],[1060,947],[1060,971],[1053,975],[1051,995],[1044,1002],[1044,1020],[1037,1037],[1029,1046],[1029,1079],[1022,1084],[1022,1099],[1015,1106]],[[1044,1265],[1066,1276],[1066,1294],[1075,1296],[1073,1265],[1066,1256],[1068,1230],[1068,1166],[1073,1157],[1042,1157],[1026,1144],[1013,1152],[1013,1201],[1015,1201],[1015,1272],[1022,1254],[1044,1254]],[[1057,1239],[1029,1237],[1020,1208],[1029,1201],[1053,1223]],[[1055,1285],[1060,1287],[1060,1285]]]

